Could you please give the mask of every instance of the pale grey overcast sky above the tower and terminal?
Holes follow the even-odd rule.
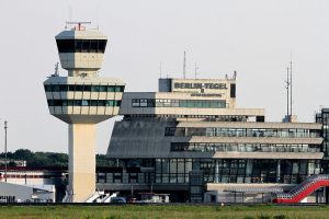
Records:
[[[156,91],[162,76],[223,78],[238,72],[238,107],[265,108],[266,120],[286,112],[284,80],[294,65],[294,113],[313,122],[329,106],[327,0],[1,0],[0,151],[3,120],[14,151],[67,152],[67,125],[48,113],[43,81],[59,60],[54,36],[67,20],[91,21],[109,36],[101,76],[126,91]],[[65,70],[60,70],[63,76]],[[98,126],[105,153],[114,117]],[[0,134],[1,134],[0,132]]]

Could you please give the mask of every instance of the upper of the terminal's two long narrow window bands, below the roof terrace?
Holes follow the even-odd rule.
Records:
[[[319,129],[166,127],[164,136],[318,138]]]

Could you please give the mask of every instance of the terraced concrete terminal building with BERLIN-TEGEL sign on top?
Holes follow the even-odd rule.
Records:
[[[171,201],[269,201],[320,174],[324,125],[266,122],[263,108],[236,107],[236,87],[235,72],[125,92],[107,149],[112,166],[98,170],[97,187],[166,193]]]

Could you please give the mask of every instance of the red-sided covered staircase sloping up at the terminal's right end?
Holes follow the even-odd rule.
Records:
[[[316,189],[326,186],[329,186],[329,174],[313,175],[288,193],[275,194],[272,201],[282,204],[299,203]]]

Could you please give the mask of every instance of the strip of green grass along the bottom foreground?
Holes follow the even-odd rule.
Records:
[[[1,206],[0,218],[231,218],[295,219],[329,218],[329,206],[192,206],[192,205],[125,205],[125,206]]]

